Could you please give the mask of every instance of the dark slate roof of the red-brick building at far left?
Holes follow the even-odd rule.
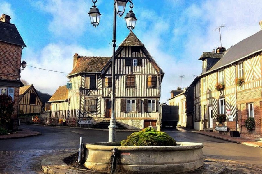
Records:
[[[26,46],[17,28],[12,23],[0,22],[0,41]]]

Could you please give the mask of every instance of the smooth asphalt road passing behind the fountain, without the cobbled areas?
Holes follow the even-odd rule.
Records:
[[[84,143],[107,142],[109,133],[108,131],[37,125],[21,125],[20,128],[30,128],[41,132],[42,135],[0,140],[0,151],[72,149],[79,147],[79,137],[81,136]],[[166,128],[164,131],[178,142],[203,143],[204,155],[262,166],[262,149],[231,143],[193,132],[180,132],[172,128]],[[117,141],[126,139],[131,133],[117,132]]]

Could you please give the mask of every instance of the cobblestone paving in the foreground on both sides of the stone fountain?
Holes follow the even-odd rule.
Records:
[[[66,150],[28,150],[28,151],[0,151],[0,174],[44,174],[46,173],[78,173],[101,174],[90,170],[79,170],[63,164],[63,158],[77,149]],[[253,174],[262,173],[262,166],[256,166],[217,157],[204,156],[205,165],[202,169],[188,174]]]

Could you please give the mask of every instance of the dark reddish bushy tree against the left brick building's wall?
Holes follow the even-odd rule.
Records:
[[[8,95],[0,95],[0,122],[4,128],[10,126],[11,115],[14,113],[15,101]]]

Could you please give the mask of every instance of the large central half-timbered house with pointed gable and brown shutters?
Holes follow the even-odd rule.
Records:
[[[111,59],[74,55],[67,76],[69,118],[91,118],[93,124],[111,118]],[[117,122],[128,128],[156,126],[164,72],[132,31],[116,50],[115,75]]]

